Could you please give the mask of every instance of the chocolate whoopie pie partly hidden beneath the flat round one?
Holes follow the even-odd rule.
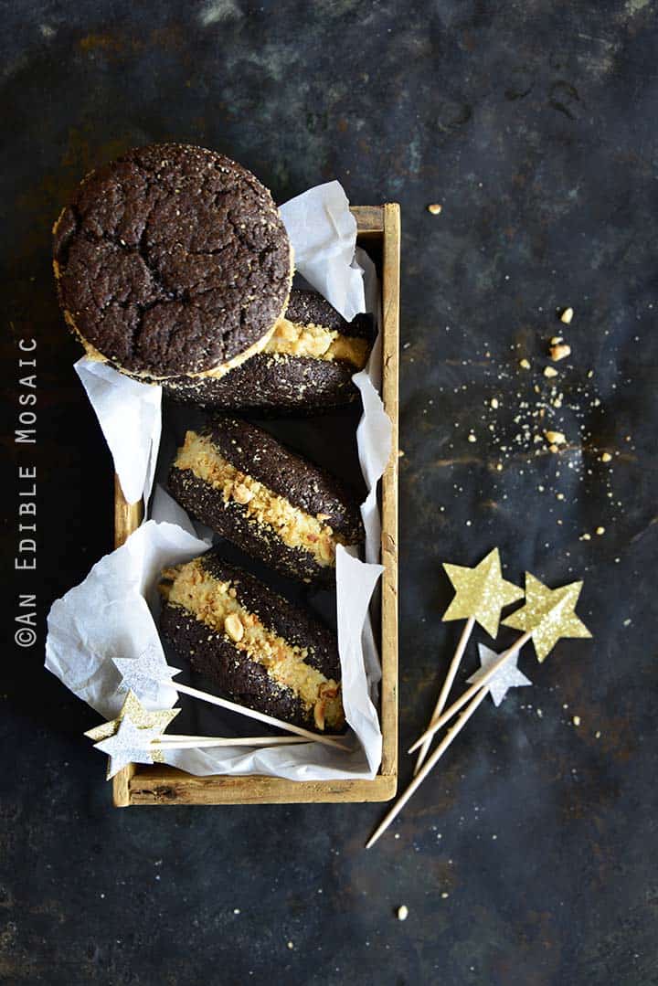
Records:
[[[290,292],[265,346],[221,379],[163,382],[174,399],[222,410],[294,413],[327,410],[358,396],[352,375],[366,365],[375,331],[369,315],[346,321],[316,291]]]

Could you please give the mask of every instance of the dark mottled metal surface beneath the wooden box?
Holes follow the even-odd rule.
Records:
[[[460,629],[440,619],[442,560],[498,544],[509,577],[583,576],[595,640],[563,641],[541,667],[526,653],[534,687],[478,712],[369,853],[377,806],[111,810],[80,736],[97,717],[41,671],[42,632],[33,650],[7,647],[0,979],[657,983],[654,5],[23,0],[2,22],[4,441],[10,463],[31,460],[12,445],[13,340],[34,332],[41,620],[111,528],[50,226],[93,165],[174,138],[236,157],[279,201],[337,177],[353,202],[402,203],[403,744]],[[578,418],[591,430],[585,471],[556,478],[554,457],[518,449],[498,472],[518,359],[542,365],[564,305],[566,433]],[[487,440],[494,391],[505,413]],[[610,486],[604,446],[621,452]],[[3,597],[11,631],[15,591]]]

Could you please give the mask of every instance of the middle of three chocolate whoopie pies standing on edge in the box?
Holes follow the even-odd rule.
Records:
[[[188,431],[168,484],[192,517],[304,582],[330,585],[336,544],[364,538],[341,484],[247,421],[217,416]]]

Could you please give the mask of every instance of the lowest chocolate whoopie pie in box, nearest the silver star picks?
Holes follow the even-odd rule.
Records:
[[[344,725],[333,633],[211,551],[165,569],[163,638],[229,698],[297,726]]]

